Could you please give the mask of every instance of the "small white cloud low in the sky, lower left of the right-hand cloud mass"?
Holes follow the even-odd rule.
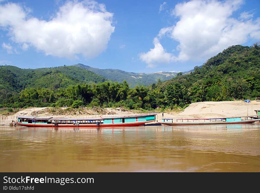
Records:
[[[176,58],[165,51],[158,38],[154,38],[153,43],[155,46],[153,49],[150,49],[147,53],[139,54],[139,58],[147,63],[147,67],[155,67],[158,63],[170,63],[175,61]]]

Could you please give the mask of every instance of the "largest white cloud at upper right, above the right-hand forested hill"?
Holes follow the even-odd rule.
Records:
[[[178,56],[168,61],[205,61],[229,46],[246,43],[248,38],[259,40],[260,19],[251,19],[248,12],[241,14],[242,21],[232,17],[243,3],[243,0],[193,0],[177,4],[172,15],[178,21],[162,28],[157,35],[159,39],[166,35],[179,43],[175,48],[179,51]],[[148,65],[155,58],[149,54],[152,50],[146,53],[145,60],[140,57]],[[160,50],[164,50],[161,44]],[[163,55],[171,54],[164,52]]]

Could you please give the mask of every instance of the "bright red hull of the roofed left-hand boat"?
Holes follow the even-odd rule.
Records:
[[[129,126],[142,126],[145,123],[151,123],[155,120],[149,120],[149,121],[142,121],[142,122],[134,122],[134,123],[114,123],[114,124],[79,124],[79,125],[73,125],[73,124],[35,124],[35,123],[16,123],[19,126],[26,126],[26,127],[82,127],[82,128],[96,128],[96,127],[129,127]]]

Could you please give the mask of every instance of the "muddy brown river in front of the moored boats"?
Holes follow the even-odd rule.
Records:
[[[1,172],[260,172],[260,124],[0,126]]]

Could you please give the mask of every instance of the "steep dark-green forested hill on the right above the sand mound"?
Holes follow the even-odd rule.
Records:
[[[163,105],[260,96],[260,46],[230,46],[190,74],[158,83]]]

